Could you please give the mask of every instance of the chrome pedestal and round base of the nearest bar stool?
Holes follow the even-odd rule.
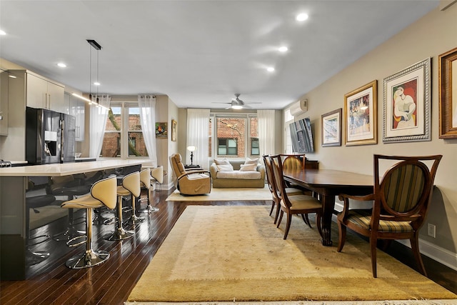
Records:
[[[109,259],[109,252],[92,250],[92,209],[86,209],[86,251],[71,257],[65,265],[71,269],[83,269],[96,266]]]

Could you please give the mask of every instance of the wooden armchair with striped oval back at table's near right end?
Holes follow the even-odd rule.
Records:
[[[376,274],[376,245],[378,239],[409,239],[418,264],[418,270],[426,276],[419,252],[419,229],[427,214],[433,191],[433,180],[441,161],[437,156],[381,156],[374,155],[374,192],[366,196],[341,194],[344,208],[338,214],[341,252],[346,240],[346,227],[370,239],[371,269]],[[380,161],[396,162],[379,177]],[[426,165],[430,166],[430,168]],[[373,201],[369,210],[349,209],[352,200]]]

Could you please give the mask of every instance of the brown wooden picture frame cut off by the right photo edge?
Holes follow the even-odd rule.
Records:
[[[438,56],[440,139],[457,138],[457,48]],[[452,71],[456,71],[452,77]]]

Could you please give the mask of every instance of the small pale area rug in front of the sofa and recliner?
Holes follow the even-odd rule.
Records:
[[[210,194],[196,196],[182,196],[179,191],[174,191],[166,201],[231,201],[231,200],[271,200],[268,186],[263,189],[211,189]]]

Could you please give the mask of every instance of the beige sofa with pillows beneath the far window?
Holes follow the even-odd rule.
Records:
[[[265,187],[265,166],[258,159],[214,159],[209,171],[214,188]]]

